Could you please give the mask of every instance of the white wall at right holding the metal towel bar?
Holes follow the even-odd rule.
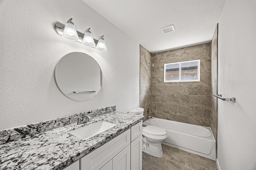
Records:
[[[256,1],[226,1],[219,22],[218,160],[222,170],[256,170]]]

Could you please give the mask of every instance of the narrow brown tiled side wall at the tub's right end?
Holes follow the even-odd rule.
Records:
[[[211,129],[215,139],[217,139],[217,98],[214,97],[214,94],[217,93],[217,60],[218,60],[218,25],[214,31],[214,35],[212,37],[212,106],[211,106]]]

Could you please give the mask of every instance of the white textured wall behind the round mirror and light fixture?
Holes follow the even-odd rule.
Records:
[[[0,1],[0,130],[116,105],[139,106],[139,44],[80,0]],[[70,18],[80,32],[104,35],[108,51],[67,41],[54,30]],[[65,97],[54,82],[54,67],[70,52],[83,52],[100,65],[103,84],[91,100]]]

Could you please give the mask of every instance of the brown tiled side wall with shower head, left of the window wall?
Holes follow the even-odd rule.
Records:
[[[144,108],[144,120],[148,119],[146,109],[152,110],[151,74],[152,54],[140,45],[140,107]]]

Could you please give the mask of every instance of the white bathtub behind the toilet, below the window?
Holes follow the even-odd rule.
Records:
[[[216,142],[210,127],[151,118],[143,125],[155,125],[167,132],[162,143],[215,160]]]

